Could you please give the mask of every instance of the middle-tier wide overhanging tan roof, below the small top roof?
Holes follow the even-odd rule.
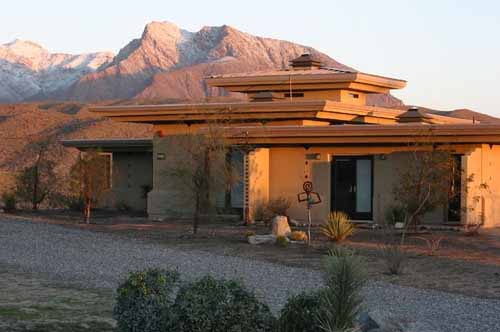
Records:
[[[205,123],[207,120],[244,123],[295,119],[332,123],[396,124],[398,116],[405,112],[330,100],[122,105],[91,107],[90,110],[115,121],[151,124]],[[431,122],[436,124],[471,123],[470,120],[439,115],[429,116]]]

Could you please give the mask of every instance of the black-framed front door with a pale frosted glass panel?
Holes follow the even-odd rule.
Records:
[[[335,157],[332,160],[332,211],[343,211],[353,220],[371,220],[373,208],[373,158]]]

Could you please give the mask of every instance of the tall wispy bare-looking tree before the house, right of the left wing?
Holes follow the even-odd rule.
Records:
[[[225,139],[224,128],[212,122],[198,132],[167,139],[170,140],[170,160],[164,175],[190,205],[196,234],[201,216],[213,211],[216,195],[228,191],[238,178],[227,158],[231,147]]]

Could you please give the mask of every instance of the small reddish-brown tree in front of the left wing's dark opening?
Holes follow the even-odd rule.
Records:
[[[70,170],[73,195],[83,201],[83,220],[90,224],[92,209],[109,188],[109,159],[98,151],[80,154]]]

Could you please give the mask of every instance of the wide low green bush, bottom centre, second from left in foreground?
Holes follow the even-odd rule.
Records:
[[[181,287],[174,304],[178,332],[272,331],[269,308],[238,282],[203,277]]]

